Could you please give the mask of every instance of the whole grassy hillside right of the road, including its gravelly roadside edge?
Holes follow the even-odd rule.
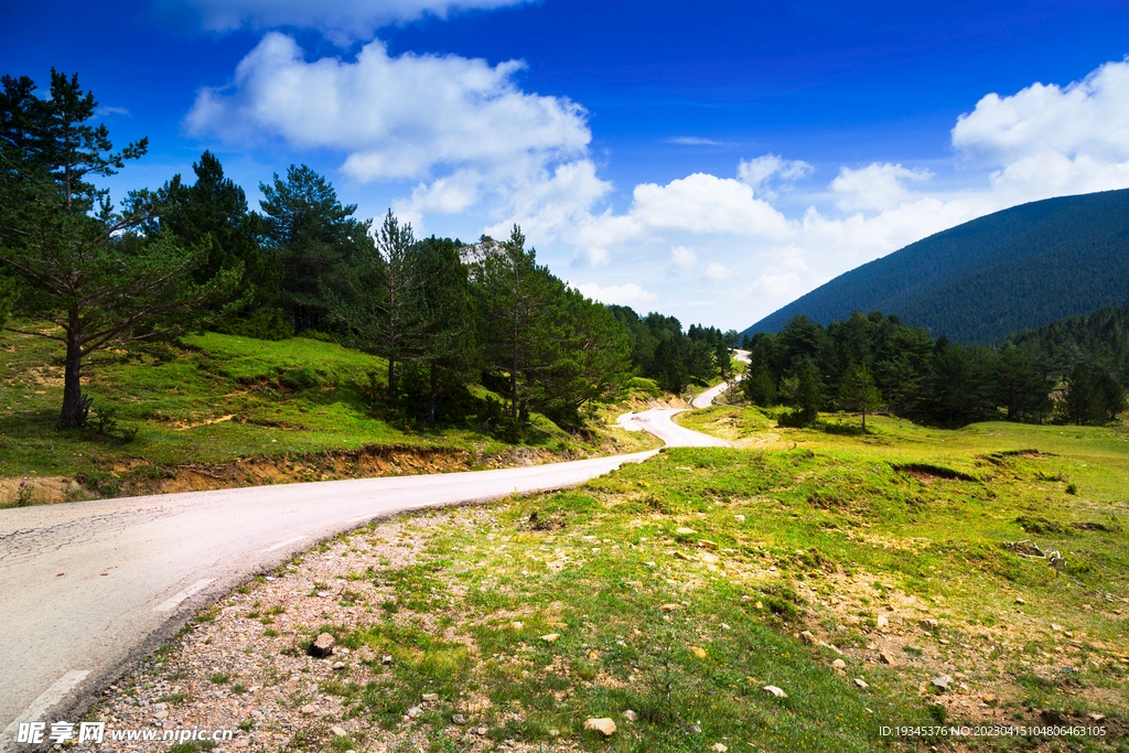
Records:
[[[739,447],[343,534],[94,713],[140,723],[130,700],[164,693],[251,750],[1129,750],[1123,429],[684,420]],[[323,631],[349,653],[307,656]],[[1054,726],[1091,732],[1032,732]]]

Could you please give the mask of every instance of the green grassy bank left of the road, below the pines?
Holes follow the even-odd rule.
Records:
[[[585,443],[541,417],[525,446],[500,443],[476,415],[475,395],[487,394],[476,385],[447,405],[439,428],[425,430],[367,394],[383,393],[383,359],[305,338],[192,335],[96,357],[84,375],[91,418],[82,430],[60,432],[55,343],[0,333],[0,505],[12,500],[17,479],[36,480],[44,501],[465,470],[616,448],[606,436]],[[622,435],[628,449],[647,441]]]

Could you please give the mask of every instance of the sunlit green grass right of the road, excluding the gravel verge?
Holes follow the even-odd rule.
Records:
[[[726,411],[689,418],[708,426]],[[769,430],[763,414],[736,413],[741,432]],[[786,439],[782,452],[664,450],[579,489],[497,506],[484,526],[429,527],[423,558],[365,576],[395,608],[336,636],[395,660],[334,692],[351,715],[387,728],[438,692],[414,723],[432,737],[465,692],[489,699],[469,724],[492,739],[551,747],[555,729],[592,751],[912,747],[881,727],[977,721],[949,704],[955,694],[919,693],[946,668],[1026,725],[1043,709],[1071,724],[1129,711],[1129,667],[1117,658],[1124,622],[1112,612],[1129,611],[1123,435],[1007,423],[938,431],[878,418],[873,435]],[[1032,448],[1040,453],[1004,454]],[[1056,525],[1032,536],[1032,517]],[[1003,545],[1025,539],[1061,550],[1067,568]],[[879,614],[904,627],[893,649],[903,666],[867,648],[892,636],[878,631]],[[938,627],[922,629],[922,616]],[[805,629],[850,654],[848,674],[831,669],[831,649],[795,638]],[[560,638],[541,639],[549,633]],[[620,732],[585,733],[587,717],[611,717]],[[977,750],[1025,744],[981,739]]]

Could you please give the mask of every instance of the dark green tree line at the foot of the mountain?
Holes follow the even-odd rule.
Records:
[[[826,327],[795,316],[774,334],[743,338],[751,368],[742,391],[756,405],[790,405],[785,423],[821,409],[879,406],[943,426],[1007,419],[1095,423],[1126,410],[1124,331],[1099,317],[1017,333],[997,347],[934,340],[879,312],[854,312]],[[1120,338],[1120,339],[1119,339]],[[1110,343],[1114,343],[1113,347]],[[1117,344],[1121,343],[1121,344]],[[865,420],[865,419],[864,419]]]

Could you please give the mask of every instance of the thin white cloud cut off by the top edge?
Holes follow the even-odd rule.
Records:
[[[347,44],[367,40],[382,26],[403,24],[423,16],[446,18],[460,10],[516,6],[527,0],[158,0],[158,6],[187,6],[211,32],[233,32],[295,26],[314,28],[330,40]]]

